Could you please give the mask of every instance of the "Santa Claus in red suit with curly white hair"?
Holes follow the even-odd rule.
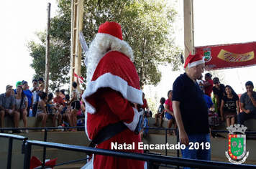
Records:
[[[132,60],[132,49],[123,41],[121,26],[108,21],[101,24],[86,54],[87,87],[82,96],[91,147],[115,150],[113,144],[134,145],[132,150],[123,146],[122,151],[142,153],[137,147],[140,135],[134,134],[142,91]],[[144,168],[144,162],[92,155],[84,168]]]

